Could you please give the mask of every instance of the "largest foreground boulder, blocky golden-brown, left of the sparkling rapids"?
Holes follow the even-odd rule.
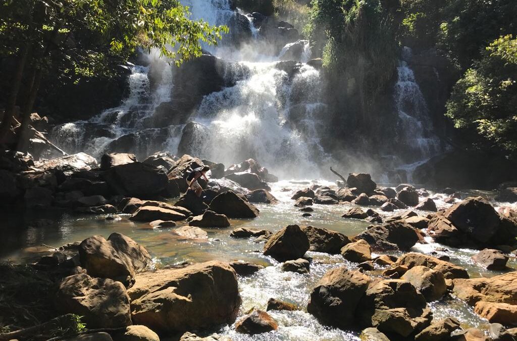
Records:
[[[235,271],[218,261],[140,273],[128,294],[133,322],[158,333],[229,322],[241,303]]]

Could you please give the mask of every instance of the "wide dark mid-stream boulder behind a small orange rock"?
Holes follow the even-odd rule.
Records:
[[[420,240],[415,229],[402,221],[374,226],[359,233],[354,239],[363,239],[376,250],[402,251],[409,250]]]

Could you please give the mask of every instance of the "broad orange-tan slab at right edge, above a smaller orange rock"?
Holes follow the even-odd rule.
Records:
[[[452,282],[453,293],[469,305],[474,306],[479,301],[517,304],[517,272]]]

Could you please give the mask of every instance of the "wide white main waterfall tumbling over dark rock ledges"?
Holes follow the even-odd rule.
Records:
[[[246,18],[243,20],[249,23],[251,31],[249,41],[261,39],[253,17],[231,10],[228,0],[181,3],[189,6],[193,19],[213,25]],[[244,53],[249,45],[234,46],[231,41],[223,41],[219,48],[204,49],[222,58],[220,76],[233,85],[204,96],[192,110],[187,122],[199,122],[206,129],[193,139],[189,151],[226,165],[253,157],[280,175],[284,165],[289,165],[285,175],[318,177],[317,165],[328,159],[318,133],[325,106],[318,91],[320,73],[305,64],[310,60],[309,41],[286,43],[278,57],[267,56],[264,49]],[[303,64],[279,63],[281,60]],[[173,68],[164,66],[164,61],[156,56],[149,56],[148,66],[132,66],[130,94],[119,107],[87,122],[58,126],[52,139],[68,152],[85,151],[97,157],[108,151],[132,152],[139,157],[160,151],[177,154],[186,122],[163,128],[156,127],[153,121],[162,103],[175,106],[176,99],[171,99],[175,86]],[[133,150],[129,149],[131,145]]]

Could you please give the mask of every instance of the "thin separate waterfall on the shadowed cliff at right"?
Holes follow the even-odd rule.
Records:
[[[411,49],[404,47],[402,60],[397,67],[398,80],[394,88],[399,139],[404,149],[404,162],[397,169],[406,171],[409,182],[412,181],[412,173],[416,167],[442,152],[440,140],[433,132],[427,103],[408,64],[411,58]]]

